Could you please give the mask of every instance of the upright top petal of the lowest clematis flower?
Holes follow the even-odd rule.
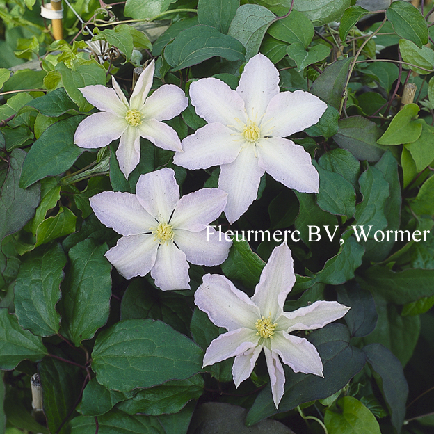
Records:
[[[282,314],[284,302],[296,282],[291,250],[286,243],[273,249],[261,273],[252,302],[261,314],[275,320]]]

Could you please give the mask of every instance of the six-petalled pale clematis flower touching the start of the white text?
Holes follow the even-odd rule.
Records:
[[[141,175],[136,194],[103,191],[90,206],[104,225],[124,235],[106,252],[120,274],[131,279],[151,272],[156,286],[168,291],[190,288],[187,261],[213,266],[227,258],[232,241],[218,241],[221,234],[207,228],[226,200],[217,188],[179,199],[175,172],[164,168]]]

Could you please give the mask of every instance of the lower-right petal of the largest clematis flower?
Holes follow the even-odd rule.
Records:
[[[276,181],[300,193],[318,193],[319,175],[303,146],[280,137],[258,142],[259,167]]]

